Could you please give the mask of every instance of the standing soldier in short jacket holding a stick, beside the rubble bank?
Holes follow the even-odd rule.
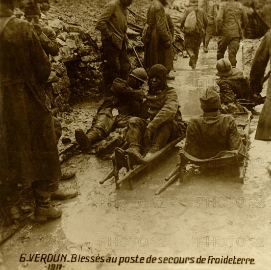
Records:
[[[128,79],[131,64],[127,55],[128,37],[126,34],[127,7],[132,0],[111,0],[103,9],[97,21],[97,29],[101,32],[101,42],[107,60],[103,73],[106,91],[116,78]]]

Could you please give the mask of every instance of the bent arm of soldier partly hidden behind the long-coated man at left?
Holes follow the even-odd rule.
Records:
[[[53,29],[44,28],[39,40],[46,54],[56,56],[59,52],[58,42]]]

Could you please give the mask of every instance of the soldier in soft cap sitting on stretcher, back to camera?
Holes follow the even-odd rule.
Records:
[[[209,159],[224,150],[238,150],[245,155],[246,148],[234,118],[220,113],[220,96],[214,86],[203,91],[199,100],[203,115],[190,119],[184,151],[197,159]]]

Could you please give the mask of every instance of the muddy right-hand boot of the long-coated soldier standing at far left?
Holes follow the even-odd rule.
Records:
[[[62,211],[51,205],[50,192],[33,190],[35,196],[35,212],[34,216],[36,220],[46,221],[48,218],[61,217]]]

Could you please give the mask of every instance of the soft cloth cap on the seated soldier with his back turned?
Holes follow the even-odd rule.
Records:
[[[221,107],[220,96],[216,92],[216,88],[214,86],[210,86],[208,89],[204,90],[199,98],[199,101],[202,109],[219,109]]]

